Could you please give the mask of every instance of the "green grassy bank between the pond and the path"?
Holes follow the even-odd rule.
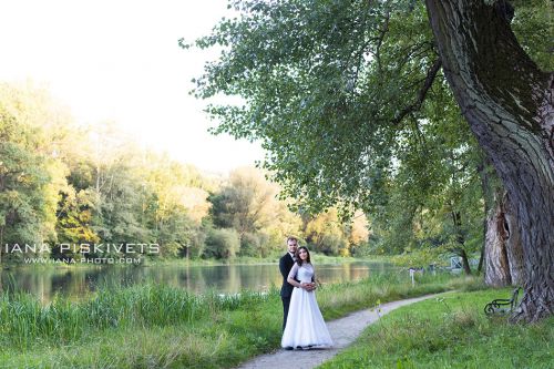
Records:
[[[481,288],[476,278],[407,273],[324,285],[326,319],[359,308],[448,289]],[[104,287],[90,299],[0,296],[0,368],[228,368],[280,344],[278,289],[201,296],[146,284]]]

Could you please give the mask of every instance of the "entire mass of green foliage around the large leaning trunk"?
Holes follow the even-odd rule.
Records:
[[[281,196],[296,199],[293,208],[363,209],[373,242],[362,253],[481,247],[485,165],[440,71],[424,2],[233,7],[239,17],[195,42],[223,52],[194,93],[242,98],[209,105],[214,132],[260,141],[264,165]],[[515,1],[514,31],[544,69],[552,69],[544,41],[552,24],[548,1]]]

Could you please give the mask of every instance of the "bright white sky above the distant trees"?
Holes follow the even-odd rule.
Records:
[[[253,165],[259,144],[207,132],[188,95],[215,52],[183,50],[233,16],[226,0],[1,0],[0,81],[31,81],[81,124],[114,121],[130,137],[208,172]]]

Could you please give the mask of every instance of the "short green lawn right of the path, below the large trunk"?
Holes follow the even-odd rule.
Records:
[[[535,325],[488,318],[510,289],[452,293],[399,308],[319,368],[553,368],[554,317]]]

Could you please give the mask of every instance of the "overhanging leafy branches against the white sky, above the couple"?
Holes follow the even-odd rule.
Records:
[[[246,102],[208,109],[220,120],[217,132],[263,141],[266,166],[285,196],[306,209],[369,204],[394,145],[396,127],[380,123],[398,113],[392,106],[413,100],[416,92],[401,81],[423,79],[435,59],[424,9],[367,1],[249,1],[237,8],[240,18],[222,21],[196,42],[226,47],[218,62],[206,65],[197,95],[223,92]],[[392,23],[392,14],[404,18]],[[407,32],[411,28],[424,32]],[[404,60],[411,53],[418,60]]]

